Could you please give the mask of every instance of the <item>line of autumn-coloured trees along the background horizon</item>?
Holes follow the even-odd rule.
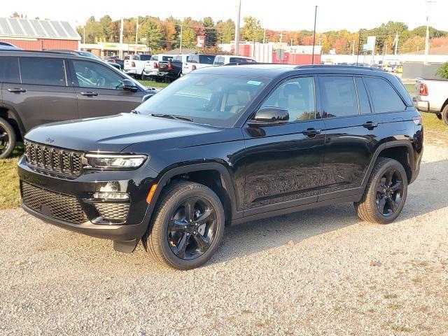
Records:
[[[219,43],[230,43],[235,39],[235,22],[233,20],[214,20],[210,17],[202,20],[183,18],[179,20],[170,16],[162,20],[153,16],[139,16],[137,42],[146,44],[152,52],[162,52],[179,48],[195,48],[196,36],[204,35],[207,49],[218,49]],[[123,20],[123,42],[135,43],[137,18]],[[105,15],[99,20],[90,17],[84,26],[77,27],[82,41],[85,43],[118,42],[120,41],[120,20],[112,20]],[[448,31],[430,27],[431,46],[447,45]],[[316,45],[322,45],[322,52],[331,51],[337,54],[349,54],[363,51],[363,43],[367,36],[377,36],[375,52],[392,53],[397,44],[398,53],[415,52],[425,48],[426,27],[409,29],[403,22],[386,22],[374,29],[360,29],[360,31],[325,31],[316,33]],[[398,36],[398,37],[397,37]],[[313,31],[276,31],[265,29],[260,20],[252,16],[243,19],[241,27],[241,41],[250,42],[286,42],[293,45],[312,45]]]

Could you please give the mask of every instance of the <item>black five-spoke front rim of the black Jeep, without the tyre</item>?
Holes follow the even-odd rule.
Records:
[[[168,243],[182,260],[193,260],[210,248],[216,236],[217,216],[213,205],[202,197],[185,200],[168,225]]]

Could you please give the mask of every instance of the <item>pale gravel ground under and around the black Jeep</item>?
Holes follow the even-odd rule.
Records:
[[[448,149],[391,225],[343,204],[239,225],[204,267],[0,211],[1,335],[448,335]]]

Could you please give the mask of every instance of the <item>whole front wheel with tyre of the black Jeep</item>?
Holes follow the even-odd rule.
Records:
[[[175,182],[162,195],[144,243],[154,260],[193,269],[216,252],[224,221],[223,205],[213,190],[199,183]]]

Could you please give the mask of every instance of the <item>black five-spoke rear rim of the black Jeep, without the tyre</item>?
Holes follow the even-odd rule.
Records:
[[[392,216],[400,208],[405,185],[403,176],[393,167],[384,172],[377,186],[377,209],[383,216]]]

